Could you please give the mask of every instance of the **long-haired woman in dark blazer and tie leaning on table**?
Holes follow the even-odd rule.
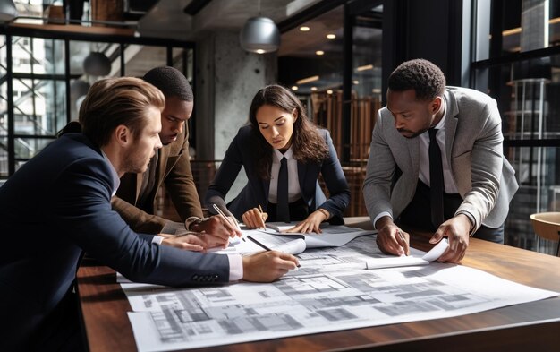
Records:
[[[287,162],[282,162],[283,158]],[[257,92],[250,105],[249,124],[233,138],[208,187],[208,210],[214,211],[213,204],[226,210],[225,195],[241,167],[249,180],[227,210],[248,227],[258,228],[259,218],[298,221],[291,232],[320,232],[319,225],[325,220],[344,224],[350,189],[333,142],[327,130],[308,120],[300,100],[290,90],[270,85]],[[278,181],[283,179],[279,176],[283,168],[287,168],[287,186]],[[319,173],[327,184],[329,199],[318,185]],[[278,192],[285,188],[289,218],[282,207],[286,192]]]

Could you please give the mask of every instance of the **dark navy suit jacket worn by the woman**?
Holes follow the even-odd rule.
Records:
[[[328,156],[320,163],[298,162],[301,198],[310,207],[310,211],[323,208],[333,215],[330,219],[331,223],[344,224],[343,211],[350,202],[350,188],[336,156],[330,134],[327,130],[318,131],[327,143]],[[240,128],[225,152],[224,160],[216,172],[214,181],[208,186],[205,203],[209,211],[214,212],[213,203],[225,206],[225,194],[233,185],[241,167],[245,168],[248,182],[242,192],[227,205],[227,209],[237,219],[241,219],[245,211],[258,208],[259,205],[263,206],[266,211],[270,180],[260,178],[255,171],[254,145],[255,135],[252,127],[247,125]],[[318,185],[319,173],[322,174],[330,193],[328,200]]]

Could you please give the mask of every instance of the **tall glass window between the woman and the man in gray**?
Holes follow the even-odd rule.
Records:
[[[367,215],[361,185],[381,107],[383,5],[335,3],[310,20],[287,25],[278,80],[306,103],[310,119],[331,133],[352,191],[345,215]]]

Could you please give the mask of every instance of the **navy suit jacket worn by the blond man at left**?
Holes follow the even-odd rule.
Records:
[[[168,286],[225,282],[225,255],[151,243],[111,210],[112,169],[68,133],[0,187],[0,350],[24,350],[72,286],[85,251],[129,279]]]

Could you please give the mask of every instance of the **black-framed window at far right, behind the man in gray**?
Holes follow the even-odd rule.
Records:
[[[520,184],[505,243],[552,253],[530,214],[560,211],[560,1],[479,0],[473,83],[497,100]]]

